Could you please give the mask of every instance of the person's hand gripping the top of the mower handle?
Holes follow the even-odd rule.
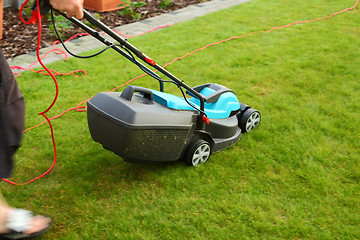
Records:
[[[76,17],[77,19],[83,18],[82,11],[84,0],[50,0],[50,4],[56,10],[66,13],[66,16]]]

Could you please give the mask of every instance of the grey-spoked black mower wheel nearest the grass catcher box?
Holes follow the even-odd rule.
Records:
[[[185,161],[189,166],[200,166],[209,159],[210,155],[210,144],[205,140],[199,139],[189,145]]]

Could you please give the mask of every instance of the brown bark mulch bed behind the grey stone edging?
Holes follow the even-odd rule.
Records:
[[[97,13],[95,11],[90,12],[96,14],[97,17],[100,16],[100,19],[103,23],[105,23],[110,28],[114,28],[124,24],[154,17],[166,12],[171,12],[189,5],[197,4],[203,2],[204,0],[173,0],[172,4],[166,9],[161,9],[159,7],[161,0],[142,1],[146,2],[146,6],[138,9],[138,12],[142,13],[140,19],[132,19],[128,16],[120,16],[119,10],[103,13]],[[29,17],[24,16],[24,18],[28,19]],[[22,54],[34,52],[37,46],[37,25],[23,24],[19,19],[19,11],[14,8],[4,9],[3,19],[3,39],[0,40],[0,47],[2,48],[5,57],[9,59]],[[49,28],[50,24],[51,22],[47,19],[47,17],[44,17],[42,20],[42,48],[50,46],[55,40],[57,40],[52,30]],[[75,34],[82,32],[84,32],[84,30],[80,29],[77,26],[74,26],[74,28],[66,28],[63,38],[68,39]]]

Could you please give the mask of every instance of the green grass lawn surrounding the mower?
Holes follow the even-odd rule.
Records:
[[[212,42],[354,4],[253,0],[129,41],[165,64]],[[231,40],[167,67],[191,86],[223,84],[262,113],[258,129],[206,165],[125,163],[92,141],[86,113],[70,112],[53,121],[54,170],[22,187],[2,182],[5,197],[54,217],[45,239],[359,239],[359,13]],[[141,74],[112,51],[50,67],[88,73],[58,77],[50,117]],[[18,81],[30,127],[44,120],[37,113],[52,100],[53,83],[33,73]],[[132,84],[158,86],[148,77]],[[38,176],[52,158],[47,126],[25,133],[12,180]]]

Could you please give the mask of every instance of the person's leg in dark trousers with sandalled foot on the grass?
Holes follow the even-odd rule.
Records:
[[[8,178],[13,168],[13,155],[20,146],[25,106],[16,79],[0,49],[0,181]],[[0,193],[0,238],[22,225],[25,235],[41,232],[50,225],[50,218],[33,216],[30,211],[9,206]],[[19,229],[16,228],[15,229]],[[18,231],[18,230],[16,230]],[[19,236],[19,235],[17,235]]]

